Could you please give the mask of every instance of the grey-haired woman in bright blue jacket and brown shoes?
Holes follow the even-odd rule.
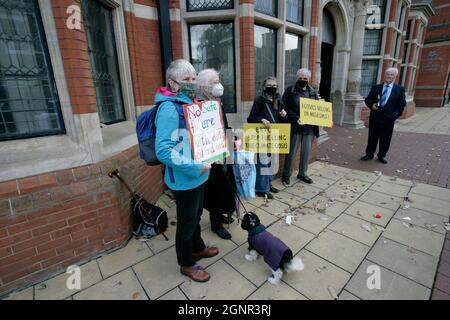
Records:
[[[194,281],[206,282],[210,275],[196,263],[217,255],[201,238],[204,184],[210,164],[194,161],[183,105],[195,100],[196,72],[186,60],[173,61],[166,72],[167,87],[158,90],[155,103],[156,156],[165,164],[164,182],[174,191],[177,204],[175,249],[180,272]]]

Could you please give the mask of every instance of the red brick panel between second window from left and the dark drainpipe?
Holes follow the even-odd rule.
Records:
[[[156,90],[164,83],[158,21],[125,12],[125,25],[135,103],[151,105]]]

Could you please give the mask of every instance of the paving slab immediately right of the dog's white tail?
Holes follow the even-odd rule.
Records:
[[[370,250],[369,246],[331,230],[325,230],[306,246],[308,251],[353,273]]]

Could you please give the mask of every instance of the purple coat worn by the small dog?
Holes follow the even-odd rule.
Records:
[[[248,243],[264,257],[264,261],[272,270],[280,267],[284,253],[290,250],[283,241],[266,230],[257,234],[249,234]]]

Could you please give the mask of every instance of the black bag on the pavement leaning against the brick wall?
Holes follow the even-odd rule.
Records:
[[[167,212],[162,208],[136,195],[131,198],[131,210],[135,220],[133,234],[136,238],[151,238],[167,230]]]

